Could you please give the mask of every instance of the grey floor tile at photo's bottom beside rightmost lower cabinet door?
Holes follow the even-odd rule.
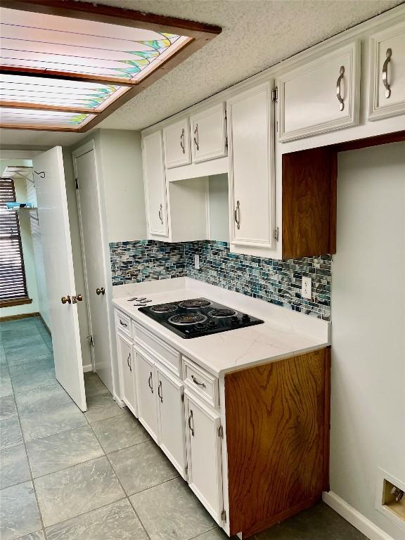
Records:
[[[188,540],[216,525],[180,478],[130,499],[151,540]]]

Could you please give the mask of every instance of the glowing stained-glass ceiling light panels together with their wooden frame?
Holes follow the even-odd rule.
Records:
[[[196,32],[198,23],[181,21],[190,26],[189,35],[181,35],[172,32],[179,20],[165,27],[165,18],[154,22],[158,15],[81,2],[17,2],[15,9],[3,4],[0,127],[86,131],[148,86],[152,72],[165,64],[163,75],[179,63],[171,60],[188,44],[200,40],[203,46],[220,31],[200,25]]]

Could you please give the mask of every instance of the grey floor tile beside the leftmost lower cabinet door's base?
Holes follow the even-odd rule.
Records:
[[[105,454],[150,440],[141,423],[128,410],[115,418],[91,424]]]

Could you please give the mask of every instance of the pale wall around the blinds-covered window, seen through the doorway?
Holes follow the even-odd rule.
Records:
[[[0,176],[4,169],[12,165],[24,165],[31,167],[30,160],[23,159],[2,159],[0,160]],[[15,197],[18,201],[27,201],[27,192],[25,190],[24,179],[14,179]],[[30,217],[28,214],[19,214],[20,217],[20,233],[21,243],[23,245],[23,257],[25,266],[25,278],[27,281],[28,297],[32,300],[31,304],[22,304],[19,306],[2,307],[1,316],[8,317],[13,315],[30,314],[39,312],[37,277],[35,274],[34,247],[32,245]]]

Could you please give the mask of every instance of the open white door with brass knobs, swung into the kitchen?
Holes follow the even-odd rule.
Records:
[[[51,148],[33,162],[56,378],[86,411],[79,318],[72,300],[83,291],[75,287],[62,148]],[[63,304],[62,297],[70,297],[71,303]]]

